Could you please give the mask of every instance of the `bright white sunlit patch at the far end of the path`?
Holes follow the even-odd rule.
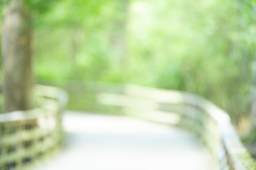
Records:
[[[63,117],[64,130],[86,133],[169,133],[166,125],[150,123],[124,116],[68,114]]]

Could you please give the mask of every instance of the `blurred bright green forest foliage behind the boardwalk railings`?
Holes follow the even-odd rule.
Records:
[[[237,127],[250,121],[254,2],[31,2],[38,83],[104,81],[182,90],[211,100]]]

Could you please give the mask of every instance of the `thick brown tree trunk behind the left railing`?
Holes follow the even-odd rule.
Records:
[[[32,28],[22,1],[5,9],[2,29],[4,112],[33,108]]]

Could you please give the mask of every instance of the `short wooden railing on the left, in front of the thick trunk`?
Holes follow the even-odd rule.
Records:
[[[0,169],[23,169],[60,144],[64,91],[35,86],[36,108],[0,114]]]

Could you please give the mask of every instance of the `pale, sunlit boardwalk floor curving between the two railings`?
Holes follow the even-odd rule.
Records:
[[[67,111],[62,151],[33,170],[211,170],[187,131],[123,116]]]

